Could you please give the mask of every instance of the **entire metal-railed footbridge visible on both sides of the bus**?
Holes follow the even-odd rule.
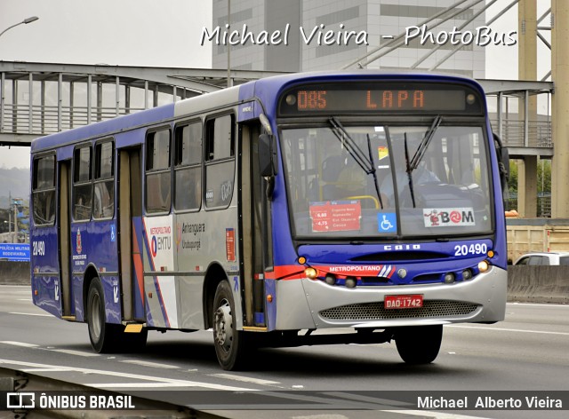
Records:
[[[25,146],[31,139],[148,107],[224,88],[227,70],[119,67],[0,61],[0,145]],[[231,83],[275,72],[232,70]],[[504,107],[508,99],[549,95],[551,82],[479,80],[490,107],[493,128],[514,157],[551,157],[549,115],[532,119]],[[527,107],[526,107],[527,108]]]

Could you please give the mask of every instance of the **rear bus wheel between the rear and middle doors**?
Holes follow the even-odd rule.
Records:
[[[86,314],[92,349],[98,353],[113,351],[122,325],[105,321],[105,295],[99,278],[89,285]]]

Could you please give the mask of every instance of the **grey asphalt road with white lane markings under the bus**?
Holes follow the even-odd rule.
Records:
[[[569,415],[569,406],[564,411],[477,409],[450,415],[421,410],[402,414],[397,403],[380,407],[378,402],[390,399],[393,393],[389,391],[415,398],[417,391],[435,391],[445,398],[453,394],[468,397],[469,406],[482,391],[514,391],[519,398],[569,391],[569,305],[508,304],[507,319],[501,323],[445,326],[441,352],[428,366],[405,365],[395,344],[266,349],[257,352],[254,360],[250,371],[221,370],[211,331],[150,332],[143,352],[96,354],[86,325],[58,320],[38,309],[31,304],[28,287],[0,286],[0,367],[69,383],[112,391],[148,391],[153,397],[206,410],[221,407],[228,409],[230,417],[247,419],[264,415],[319,419]],[[269,400],[268,405],[279,403],[276,396],[298,409],[265,411],[276,405],[258,405],[252,415],[229,397],[247,390],[268,394],[271,399],[263,400]],[[203,391],[203,396],[196,399],[196,391]],[[349,405],[352,401],[354,410],[342,409],[347,408],[342,402]],[[252,402],[260,403],[260,399]],[[306,403],[320,402],[320,409],[305,409]]]

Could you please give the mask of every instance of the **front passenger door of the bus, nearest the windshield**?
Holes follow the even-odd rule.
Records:
[[[268,200],[265,198],[266,181],[259,172],[258,138],[260,125],[241,127],[241,210],[243,225],[243,277],[245,300],[245,324],[266,328],[265,282],[267,261],[272,253],[268,240]]]

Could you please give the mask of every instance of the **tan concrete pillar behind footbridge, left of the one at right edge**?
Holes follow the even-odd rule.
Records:
[[[518,64],[519,80],[537,80],[537,4],[536,0],[520,0],[518,13]],[[518,100],[520,121],[524,121],[524,146],[535,146],[535,131],[529,135],[527,127],[537,121],[537,96]],[[525,158],[524,170],[517,173],[517,211],[522,217],[537,216],[537,157]],[[519,169],[522,169],[521,167]],[[534,170],[532,172],[532,170]],[[532,183],[534,182],[534,183]]]

